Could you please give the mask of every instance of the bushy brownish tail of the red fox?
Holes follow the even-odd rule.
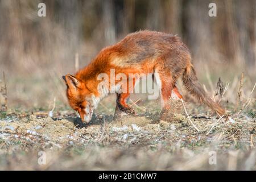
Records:
[[[218,114],[225,114],[225,110],[218,103],[214,102],[209,96],[207,96],[207,93],[205,93],[203,87],[196,77],[196,72],[192,64],[189,64],[189,66],[185,69],[182,80],[185,88],[189,93],[197,98],[200,104],[203,102]]]

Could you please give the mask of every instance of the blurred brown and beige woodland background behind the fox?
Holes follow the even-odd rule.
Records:
[[[46,17],[38,4],[46,4]],[[210,17],[209,3],[217,5]],[[205,88],[218,77],[236,102],[256,81],[256,1],[205,0],[0,0],[0,79],[5,72],[8,106],[67,105],[61,76],[84,67],[102,48],[139,30],[177,34],[192,53]],[[232,98],[234,96],[234,98]]]

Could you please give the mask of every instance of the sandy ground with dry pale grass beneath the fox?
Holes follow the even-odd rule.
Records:
[[[184,111],[159,121],[155,102],[147,105],[146,114],[121,121],[106,114],[109,106],[100,107],[90,125],[73,111],[55,111],[51,118],[46,111],[9,110],[0,120],[0,169],[256,169],[255,109],[229,119],[189,114],[198,132]],[[194,105],[186,107],[191,113]],[[45,165],[38,164],[39,151],[46,152]],[[210,151],[216,165],[209,164]]]

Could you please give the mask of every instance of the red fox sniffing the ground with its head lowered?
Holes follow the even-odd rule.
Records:
[[[225,110],[207,96],[197,80],[189,49],[179,37],[163,32],[138,31],[127,35],[114,46],[102,49],[96,58],[75,76],[69,74],[63,76],[67,85],[69,105],[78,111],[82,122],[90,122],[93,110],[112,90],[109,81],[107,86],[103,84],[99,90],[98,85],[101,80],[97,79],[100,73],[106,73],[110,77],[110,69],[127,76],[130,73],[152,73],[160,90],[163,115],[170,110],[168,101],[172,91],[177,97],[182,98],[176,87],[179,77],[182,78],[188,92],[200,103],[206,104],[219,115],[225,114]],[[133,84],[137,79],[134,77]],[[117,86],[117,82],[115,80],[114,86]],[[127,92],[123,90],[120,92],[120,88],[114,89],[117,94],[115,114],[118,110],[135,114],[133,108],[126,103],[130,96],[130,88],[127,87]]]

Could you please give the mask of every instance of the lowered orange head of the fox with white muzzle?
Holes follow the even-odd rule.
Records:
[[[90,102],[93,94],[86,87],[84,81],[72,75],[63,76],[63,80],[67,85],[67,97],[69,105],[76,110],[82,122],[89,123],[93,114],[93,103]]]

